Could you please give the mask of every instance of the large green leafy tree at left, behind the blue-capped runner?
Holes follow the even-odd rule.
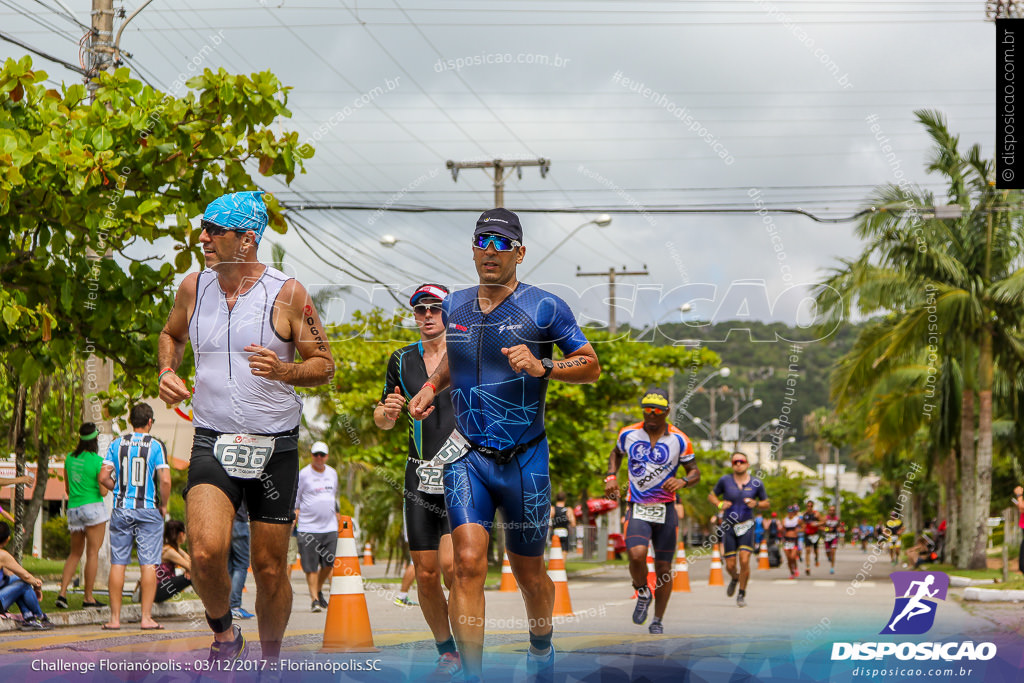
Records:
[[[20,419],[25,397],[87,354],[115,366],[111,414],[156,394],[169,288],[201,262],[190,219],[224,193],[255,189],[252,173],[290,182],[302,168],[297,133],[269,128],[290,116],[269,72],[206,70],[174,97],[119,69],[98,76],[91,100],[82,85],[58,91],[45,79],[30,57],[0,70],[0,405],[18,462],[35,429]],[[272,198],[268,208],[284,231]],[[169,243],[173,262],[140,254]],[[71,440],[71,415],[46,416],[55,426],[38,430],[40,457]],[[16,512],[19,529],[32,523]]]

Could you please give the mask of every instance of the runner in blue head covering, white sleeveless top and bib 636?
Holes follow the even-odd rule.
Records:
[[[266,228],[262,193],[225,195],[206,210],[199,241],[207,269],[189,273],[160,335],[160,397],[191,394],[175,372],[196,354],[196,437],[185,486],[193,585],[214,633],[211,658],[242,655],[231,624],[231,523],[249,507],[262,655],[278,658],[292,608],[286,567],[298,480],[302,401],[293,387],[331,381],[334,359],[309,294],[256,257]],[[295,352],[302,358],[295,361]],[[226,469],[225,469],[226,468]]]

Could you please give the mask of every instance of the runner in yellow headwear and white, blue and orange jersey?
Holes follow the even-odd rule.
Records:
[[[633,623],[647,621],[654,600],[654,618],[648,631],[665,633],[662,618],[672,597],[672,559],[676,553],[679,514],[677,492],[700,481],[694,462],[693,444],[682,431],[669,424],[669,394],[648,389],[640,399],[643,421],[624,427],[608,457],[604,493],[618,497],[618,467],[627,459],[629,493],[626,497],[626,549],[630,555],[630,577],[637,592]],[[686,470],[678,477],[679,468]],[[647,547],[654,546],[654,595],[647,586]]]

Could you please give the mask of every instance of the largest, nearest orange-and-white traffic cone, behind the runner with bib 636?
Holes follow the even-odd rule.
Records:
[[[338,549],[331,579],[331,600],[324,626],[321,652],[377,652],[370,629],[367,596],[362,592],[359,559],[355,552],[351,517],[342,517],[338,527]]]

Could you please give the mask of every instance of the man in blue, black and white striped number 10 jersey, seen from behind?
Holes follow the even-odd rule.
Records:
[[[132,433],[114,439],[103,458],[99,482],[114,492],[111,513],[111,621],[105,631],[121,628],[121,590],[125,584],[125,565],[131,561],[134,542],[142,569],[142,630],[163,629],[153,620],[153,601],[157,595],[157,565],[164,539],[164,517],[171,497],[171,469],[160,439],[150,434],[153,408],[146,403],[132,407],[128,416]],[[157,497],[157,486],[160,497]]]

